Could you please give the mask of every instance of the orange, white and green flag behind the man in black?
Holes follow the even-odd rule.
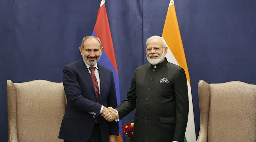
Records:
[[[174,7],[174,1],[171,0],[167,11],[164,30],[162,37],[167,43],[168,51],[165,55],[167,60],[173,64],[179,65],[185,70],[188,83],[188,100],[189,100],[189,112],[188,112],[188,125],[185,133],[184,142],[196,142],[195,121],[193,112],[193,103],[191,95],[190,79],[188,74],[187,61],[181,41],[180,29]]]

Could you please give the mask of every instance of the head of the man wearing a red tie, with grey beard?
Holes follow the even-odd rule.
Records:
[[[84,62],[90,66],[97,64],[103,51],[103,48],[100,48],[100,42],[94,37],[84,40],[83,47],[80,46],[79,49]]]

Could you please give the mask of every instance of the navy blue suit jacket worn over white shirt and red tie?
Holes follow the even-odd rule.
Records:
[[[99,114],[101,105],[117,107],[114,75],[103,65],[97,66],[100,75],[98,100],[91,75],[82,58],[64,67],[63,85],[67,105],[59,138],[71,142],[86,142],[92,134],[95,117],[99,118],[103,142],[108,142],[109,135],[118,135],[118,122],[108,122]]]

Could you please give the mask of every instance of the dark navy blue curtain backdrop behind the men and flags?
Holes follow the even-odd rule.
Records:
[[[161,35],[169,0],[107,0],[121,100],[135,68],[148,63],[146,39]],[[100,0],[0,1],[0,140],[8,141],[6,80],[62,82],[64,65],[78,60],[91,35]],[[176,0],[199,133],[197,83],[256,84],[256,1]],[[133,121],[134,112],[123,119]],[[56,136],[57,137],[57,136]]]

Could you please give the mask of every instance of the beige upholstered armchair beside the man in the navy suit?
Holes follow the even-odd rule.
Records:
[[[7,80],[9,142],[63,142],[58,139],[65,112],[63,83]]]

